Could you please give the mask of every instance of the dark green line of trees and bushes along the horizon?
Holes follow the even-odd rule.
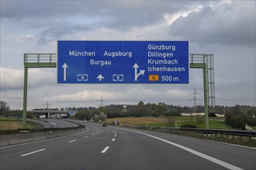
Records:
[[[10,110],[9,105],[5,101],[0,101],[0,116],[22,117],[22,110]],[[40,110],[40,109],[36,109]],[[59,110],[54,108],[53,110]],[[140,101],[135,105],[110,104],[105,107],[66,107],[61,110],[76,110],[75,118],[81,120],[106,121],[106,118],[114,117],[178,117],[182,113],[203,113],[204,106],[181,107],[172,104],[144,104]],[[235,105],[234,107],[216,106],[214,112],[209,116],[216,114],[224,114],[225,122],[232,128],[244,129],[245,125],[256,126],[256,107]],[[27,117],[33,117],[32,113],[28,113]]]

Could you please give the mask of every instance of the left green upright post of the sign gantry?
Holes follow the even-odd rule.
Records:
[[[28,67],[24,67],[24,87],[23,87],[23,116],[22,116],[22,129],[26,129],[26,100],[28,88]]]

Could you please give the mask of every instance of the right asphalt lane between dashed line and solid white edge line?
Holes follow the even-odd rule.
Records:
[[[85,169],[225,169],[154,138],[118,129],[116,133],[106,155]]]

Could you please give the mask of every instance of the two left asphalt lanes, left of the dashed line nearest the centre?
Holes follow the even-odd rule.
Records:
[[[88,131],[84,133],[32,142],[29,145],[1,148],[0,168],[81,169],[101,154],[106,145],[112,141],[113,136],[114,133],[106,128],[88,125]],[[42,149],[44,150],[40,151]],[[38,152],[26,155],[33,151]]]

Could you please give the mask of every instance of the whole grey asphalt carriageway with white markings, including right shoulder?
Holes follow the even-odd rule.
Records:
[[[0,168],[256,169],[254,148],[85,124],[79,134],[1,148]]]

